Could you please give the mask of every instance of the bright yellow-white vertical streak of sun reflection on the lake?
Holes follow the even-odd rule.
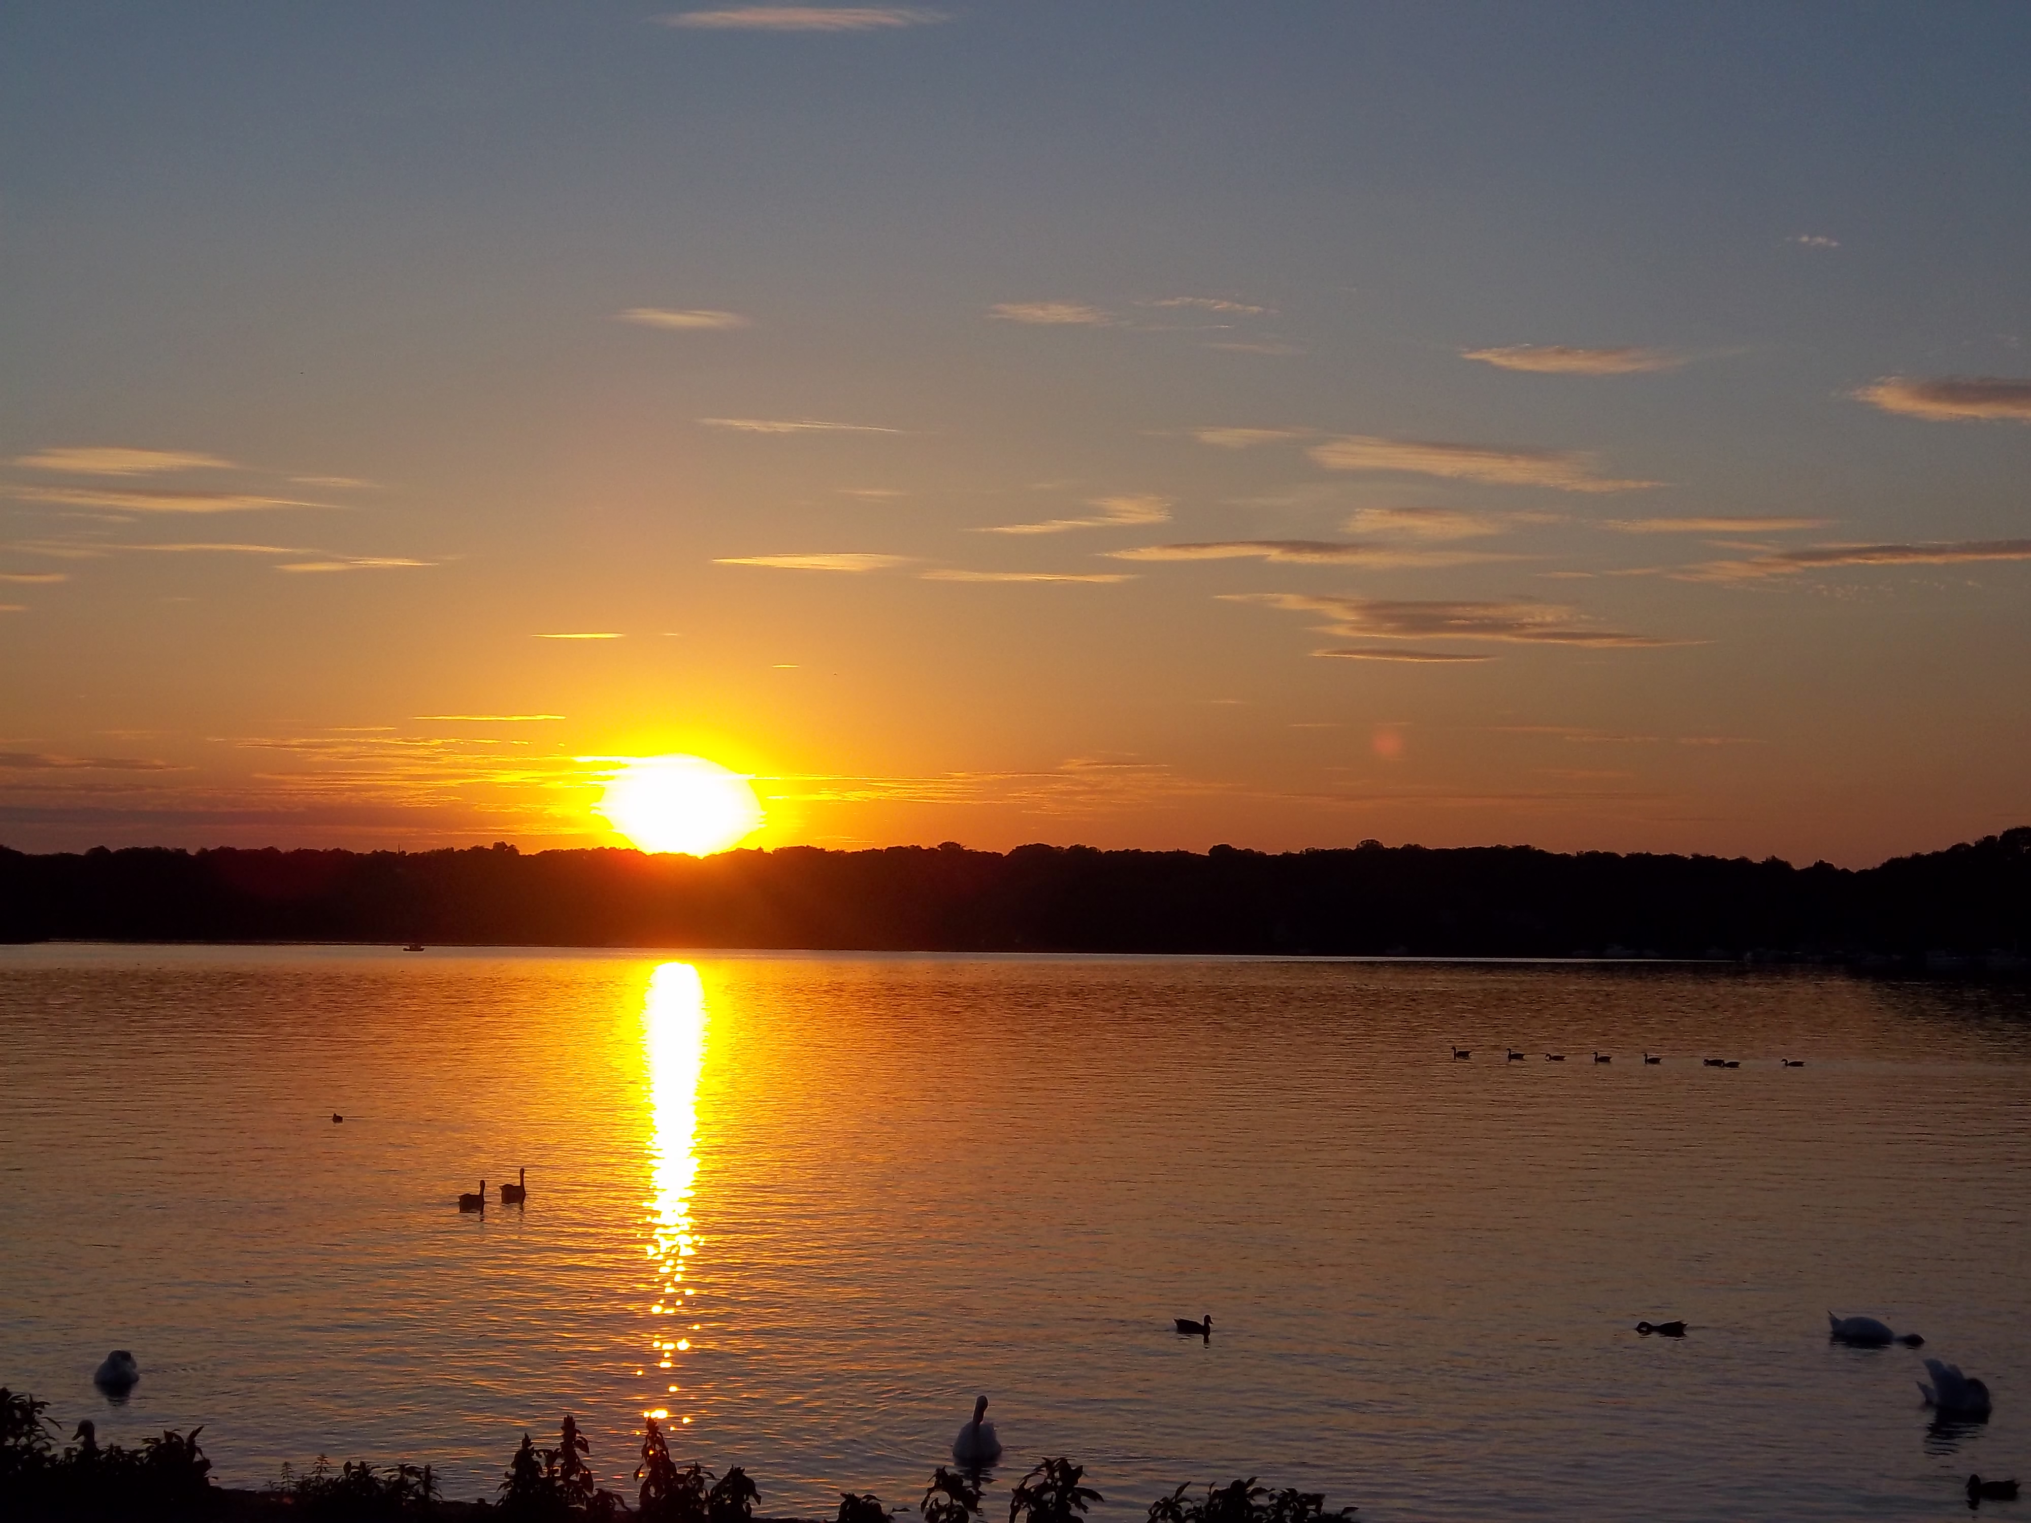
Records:
[[[686,1283],[689,1259],[697,1253],[691,1233],[691,1196],[699,1178],[699,1072],[705,1068],[705,985],[689,963],[664,963],[650,975],[642,1011],[642,1046],[648,1058],[650,1099],[650,1190],[648,1261],[656,1294],[650,1359],[660,1377],[656,1391],[644,1393],[654,1405],[646,1417],[666,1419],[678,1395],[676,1356],[691,1350],[695,1332]],[[682,1421],[691,1421],[684,1417]]]

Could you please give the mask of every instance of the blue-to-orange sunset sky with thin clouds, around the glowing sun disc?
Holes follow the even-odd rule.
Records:
[[[2031,820],[2031,8],[0,8],[0,843]]]

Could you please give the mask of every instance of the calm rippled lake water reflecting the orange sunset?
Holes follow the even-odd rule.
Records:
[[[6,948],[0,1383],[205,1423],[230,1484],[492,1495],[569,1409],[632,1497],[666,1411],[831,1515],[914,1503],[985,1391],[989,1517],[1070,1454],[1119,1519],[1237,1474],[1365,1523],[1944,1519],[2031,1472],[2027,1103],[2023,991],[1836,973]],[[1931,1428],[1828,1308],[1994,1419]]]

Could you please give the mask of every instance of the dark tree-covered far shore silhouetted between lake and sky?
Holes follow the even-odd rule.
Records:
[[[1877,867],[1383,847],[0,847],[0,940],[916,952],[2031,958],[2031,826]]]

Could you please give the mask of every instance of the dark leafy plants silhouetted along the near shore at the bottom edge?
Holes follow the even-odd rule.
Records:
[[[0,1387],[0,1517],[10,1523],[128,1523],[130,1519],[234,1519],[297,1517],[311,1523],[378,1523],[412,1517],[502,1517],[518,1523],[571,1523],[573,1519],[640,1519],[642,1523],[756,1523],[762,1491],[741,1466],[715,1476],[699,1462],[678,1464],[654,1417],[644,1419],[640,1482],[630,1507],[599,1486],[585,1458],[591,1444],[575,1417],[565,1417],[554,1448],[522,1444],[508,1460],[498,1499],[445,1501],[431,1466],[374,1466],[347,1460],[333,1468],[325,1456],[305,1474],[282,1466],[268,1491],[223,1491],[211,1482],[211,1460],[187,1436],[165,1432],[138,1450],[100,1448],[91,1423],[79,1423],[71,1446],[57,1450],[47,1401]],[[1269,1491],[1255,1478],[1204,1488],[1192,1499],[1178,1486],[1150,1507],[1148,1523],[1324,1523],[1357,1509],[1324,1511],[1324,1497]],[[1009,1523],[1083,1523],[1101,1493],[1085,1484],[1085,1466],[1066,1458],[1040,1460],[1009,1493]],[[973,1523],[981,1515],[979,1472],[942,1464],[918,1503],[922,1523]],[[837,1523],[890,1523],[892,1513],[871,1493],[841,1493]],[[768,1523],[764,1519],[764,1523]]]

